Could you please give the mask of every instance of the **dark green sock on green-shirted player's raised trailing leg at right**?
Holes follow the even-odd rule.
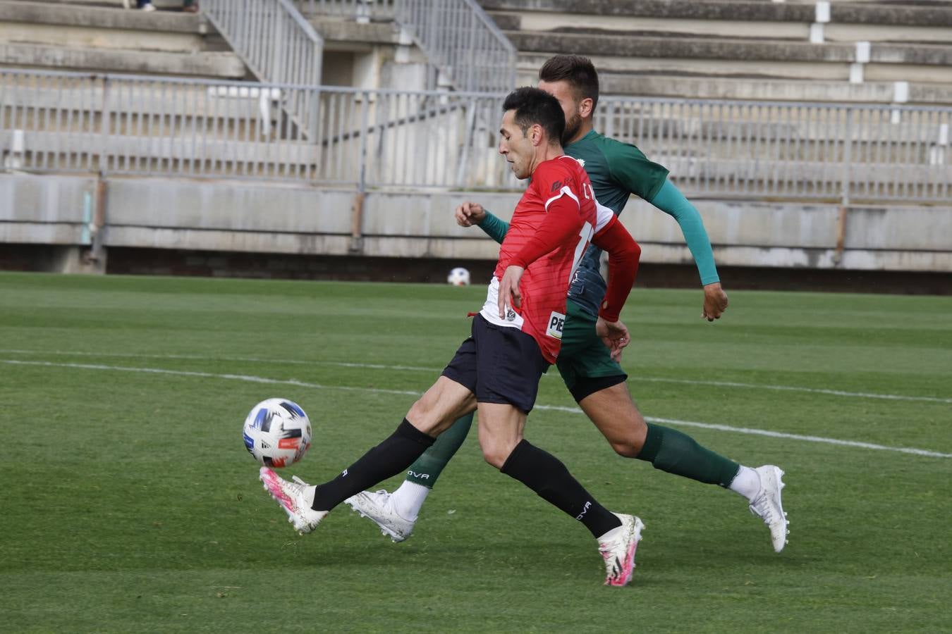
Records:
[[[741,469],[733,460],[704,449],[686,433],[651,423],[647,426],[645,446],[638,459],[650,462],[655,469],[724,488]]]

